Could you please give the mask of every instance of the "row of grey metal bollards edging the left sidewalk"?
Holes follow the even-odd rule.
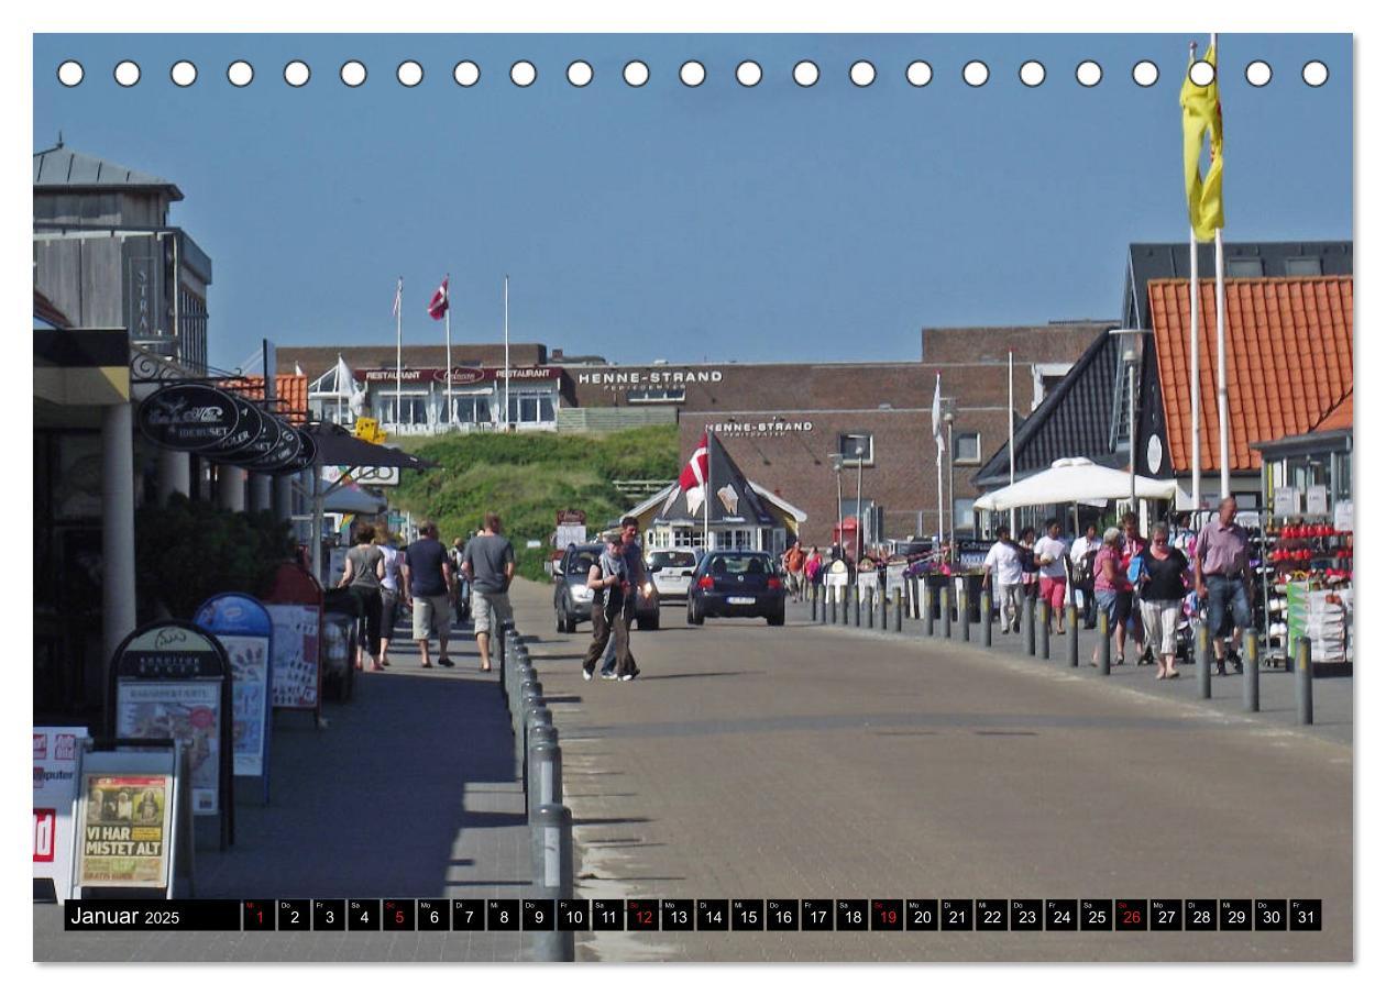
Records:
[[[502,622],[496,640],[500,693],[514,733],[516,780],[524,791],[529,818],[529,862],[535,898],[572,898],[572,812],[563,805],[563,750],[543,685],[529,661],[529,650],[511,622]],[[534,960],[574,959],[572,933],[529,930]]]

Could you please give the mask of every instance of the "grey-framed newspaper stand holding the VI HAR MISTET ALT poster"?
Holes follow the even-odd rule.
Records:
[[[79,747],[65,898],[191,898],[193,790],[183,744],[83,739]],[[112,800],[115,789],[134,797]],[[112,840],[121,852],[107,852]]]

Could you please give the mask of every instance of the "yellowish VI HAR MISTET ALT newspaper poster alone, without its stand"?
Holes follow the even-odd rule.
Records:
[[[78,887],[166,887],[172,801],[169,775],[85,775],[78,804]]]

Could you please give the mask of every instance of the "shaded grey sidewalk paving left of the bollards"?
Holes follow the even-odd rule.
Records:
[[[520,898],[529,887],[524,798],[510,723],[475,643],[423,669],[396,640],[326,728],[279,714],[273,795],[237,807],[236,845],[197,852],[198,898]],[[64,933],[33,908],[35,960],[521,960],[518,933]]]

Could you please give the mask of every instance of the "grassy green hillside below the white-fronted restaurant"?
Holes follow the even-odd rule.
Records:
[[[674,479],[679,466],[675,425],[611,435],[486,432],[401,442],[439,466],[406,473],[394,503],[437,521],[445,543],[474,534],[482,514],[496,511],[514,543],[517,572],[534,581],[546,579],[556,511],[586,511],[589,532],[603,528],[628,507],[611,481]],[[527,549],[528,539],[542,546]]]

